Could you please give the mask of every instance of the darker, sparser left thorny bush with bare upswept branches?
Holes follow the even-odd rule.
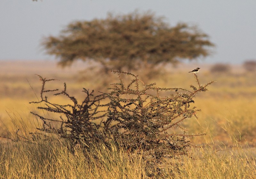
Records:
[[[45,89],[46,83],[55,81],[56,79],[46,79],[38,75],[42,81],[42,88],[40,92],[40,100],[30,103],[44,104],[37,107],[47,112],[60,113],[66,116],[66,119],[60,115],[60,119],[46,118],[46,115],[32,114],[38,116],[42,121],[42,128],[37,128],[43,132],[59,134],[61,137],[71,139],[74,144],[80,143],[81,140],[89,143],[92,139],[97,139],[100,136],[99,129],[108,110],[104,110],[101,101],[105,98],[103,94],[93,96],[93,90],[83,88],[85,94],[84,100],[79,103],[78,100],[67,93],[67,85],[64,83],[64,89]],[[48,100],[47,95],[65,96],[72,104],[60,105]],[[56,128],[56,123],[60,123],[60,127]]]

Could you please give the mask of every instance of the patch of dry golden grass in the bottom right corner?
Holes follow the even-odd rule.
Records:
[[[214,152],[206,148],[202,152],[195,152],[200,155],[200,160],[185,158],[180,170],[174,170],[174,178],[255,178],[255,155],[249,151],[244,152],[242,148],[236,150],[222,149]],[[202,159],[203,158],[203,159]]]

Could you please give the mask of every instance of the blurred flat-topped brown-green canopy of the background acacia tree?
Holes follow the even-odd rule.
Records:
[[[170,27],[152,12],[136,11],[73,22],[59,36],[44,38],[42,44],[62,66],[94,60],[106,71],[152,69],[184,58],[193,60],[209,55],[207,47],[213,46],[197,27],[184,23]]]

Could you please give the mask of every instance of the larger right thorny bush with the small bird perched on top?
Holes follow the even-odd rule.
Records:
[[[128,152],[141,149],[148,160],[161,162],[163,158],[188,154],[186,149],[191,146],[188,138],[203,134],[188,135],[180,124],[196,117],[199,110],[190,106],[194,103],[193,97],[206,91],[212,82],[203,86],[195,74],[198,87],[191,85],[192,90],[159,88],[155,83],[144,85],[134,74],[114,73],[118,73],[119,83],[112,84],[111,92],[106,94],[110,102],[105,128],[124,140],[122,144]],[[132,81],[125,85],[122,74],[131,75]],[[169,91],[169,96],[161,97],[164,91]],[[172,128],[179,128],[181,132],[174,133]]]

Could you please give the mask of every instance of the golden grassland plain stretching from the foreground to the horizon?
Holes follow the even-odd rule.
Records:
[[[106,88],[101,88],[102,83],[118,80],[115,74],[112,75],[113,79],[104,79],[101,74],[91,74],[89,69],[77,73],[77,69],[84,69],[82,65],[60,69],[54,62],[1,63],[1,136],[15,134],[18,128],[25,128],[23,131],[35,130],[35,126],[39,125],[30,114],[30,111],[38,111],[36,106],[28,104],[37,101],[40,95],[41,82],[34,74],[59,79],[47,86],[51,89],[62,89],[63,82],[66,82],[68,92],[81,100],[83,87],[96,89],[96,92],[104,91]],[[189,89],[191,84],[196,85],[196,81],[188,71],[197,66],[200,65],[181,65],[149,82],[156,82],[159,87]],[[147,81],[143,76],[139,78]],[[243,71],[215,74],[210,73],[209,66],[204,65],[198,78],[201,84],[216,82],[209,86],[209,91],[195,97],[194,105],[202,110],[197,113],[198,119],[191,118],[182,126],[188,129],[189,134],[206,133],[191,140],[195,145],[210,144],[210,147],[200,151],[191,149],[195,159],[201,160],[184,158],[183,165],[176,166],[175,170],[171,164],[166,164],[165,170],[170,172],[162,178],[256,178],[255,74]],[[70,102],[62,97],[52,97],[51,100],[58,104]],[[113,150],[110,152],[103,144],[95,144],[88,163],[82,149],[77,148],[75,153],[70,153],[66,141],[58,138],[31,144],[6,143],[4,138],[2,142],[1,178],[147,178],[144,170],[146,164],[142,162],[140,154],[130,156],[124,151],[117,151],[115,145],[111,146]],[[95,160],[95,155],[100,157],[100,163]]]

